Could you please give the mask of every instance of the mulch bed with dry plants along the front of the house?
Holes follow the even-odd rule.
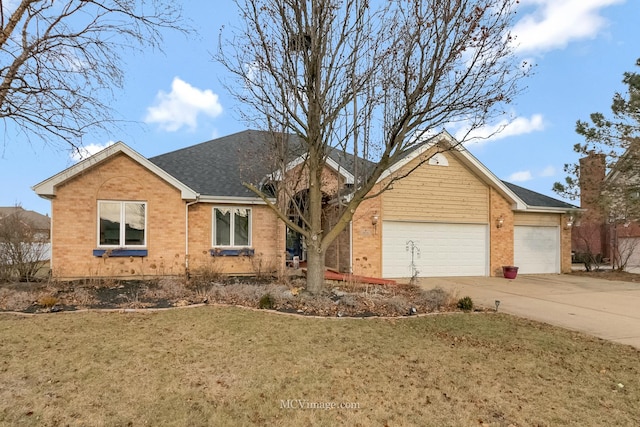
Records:
[[[327,282],[320,295],[307,293],[304,279],[287,284],[247,278],[208,283],[162,279],[0,284],[0,312],[157,309],[203,303],[326,317],[397,317],[456,309],[456,301],[442,289],[403,284]]]

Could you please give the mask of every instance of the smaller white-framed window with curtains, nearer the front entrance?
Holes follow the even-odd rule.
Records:
[[[213,246],[251,246],[251,209],[214,207]]]

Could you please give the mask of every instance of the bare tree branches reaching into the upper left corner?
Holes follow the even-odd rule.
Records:
[[[164,0],[0,0],[0,118],[5,132],[77,149],[114,124],[122,55],[161,49],[165,30],[188,32]]]

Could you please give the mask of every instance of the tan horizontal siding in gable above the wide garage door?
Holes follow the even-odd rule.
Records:
[[[449,166],[423,164],[383,195],[385,220],[486,223],[489,187],[450,153]],[[418,160],[414,160],[416,162]],[[404,170],[412,167],[407,165]]]

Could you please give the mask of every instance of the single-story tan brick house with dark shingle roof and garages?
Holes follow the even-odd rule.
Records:
[[[304,241],[242,185],[278,179],[266,161],[268,135],[244,131],[153,158],[120,142],[37,184],[35,192],[51,199],[53,276],[207,268],[255,274],[281,270],[292,256],[304,259]],[[392,165],[380,185],[424,162],[438,144],[456,142],[447,133],[433,137]],[[285,170],[299,164],[295,156],[287,161]],[[331,200],[354,185],[356,163],[337,151],[329,156],[326,221],[333,220]],[[303,197],[304,185],[297,189]],[[493,276],[504,265],[521,273],[568,272],[573,209],[500,181],[468,151],[454,148],[365,200],[327,252],[327,266],[385,278],[416,270],[420,276]]]

